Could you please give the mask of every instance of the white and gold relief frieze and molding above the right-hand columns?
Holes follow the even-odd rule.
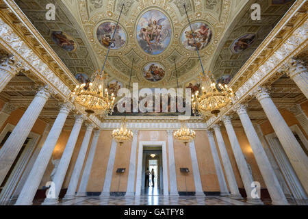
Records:
[[[294,15],[296,14],[296,11],[300,9],[300,5],[294,5],[296,10],[292,8],[288,13]],[[289,14],[287,14],[288,16]],[[288,16],[291,18],[290,16]],[[287,21],[282,20],[277,27],[275,27],[274,32],[277,33],[284,29],[285,25],[287,25],[289,19]],[[264,58],[265,60],[262,62],[261,65],[259,65],[257,68],[255,68],[255,72],[251,77],[248,78],[248,80],[235,92],[237,96],[237,100],[234,101],[233,105],[229,106],[228,108],[224,109],[222,111],[222,114],[216,117],[211,117],[209,120],[207,120],[207,126],[211,127],[215,123],[217,123],[221,116],[224,116],[225,114],[228,114],[229,112],[233,111],[234,105],[237,105],[238,103],[242,103],[248,96],[251,96],[255,89],[259,88],[259,86],[262,86],[264,83],[266,83],[271,77],[277,74],[277,72],[281,72],[281,68],[285,68],[289,64],[289,62],[292,62],[292,57],[296,56],[300,51],[303,51],[308,45],[307,40],[307,29],[308,29],[308,20],[307,15],[302,17],[302,21],[298,24],[297,27],[292,29],[290,31],[289,37],[285,38],[283,42],[275,49],[274,52],[271,53],[268,57]],[[272,40],[273,36],[270,36],[270,40]],[[263,45],[263,48],[266,47],[268,44],[267,39]],[[258,53],[254,54],[254,58],[258,57]]]

